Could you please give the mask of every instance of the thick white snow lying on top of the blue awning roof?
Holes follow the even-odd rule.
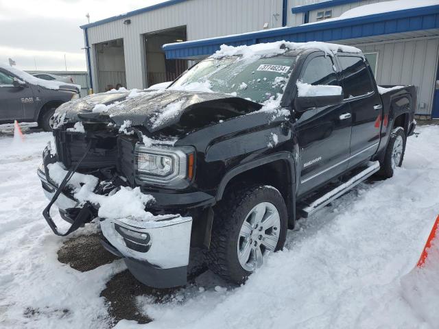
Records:
[[[331,21],[340,21],[343,19],[353,19],[355,17],[368,16],[373,14],[382,14],[384,12],[394,12],[396,10],[405,10],[412,8],[426,7],[427,5],[437,5],[438,0],[394,0],[394,1],[384,1],[380,3],[371,3],[370,5],[361,5],[359,7],[353,8],[344,12],[339,17],[334,17],[333,19],[324,19],[322,21],[302,24],[320,24],[327,23]]]

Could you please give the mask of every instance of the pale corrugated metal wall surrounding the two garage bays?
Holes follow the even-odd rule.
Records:
[[[145,86],[142,35],[149,32],[187,26],[187,40],[240,34],[282,25],[282,0],[188,0],[165,8],[130,16],[129,25],[123,18],[88,27],[91,45],[91,66],[97,90],[95,44],[123,38],[126,83],[128,88]],[[276,16],[273,16],[277,14]]]

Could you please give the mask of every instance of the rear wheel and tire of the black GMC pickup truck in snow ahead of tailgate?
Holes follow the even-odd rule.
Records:
[[[391,178],[396,167],[401,167],[404,160],[405,142],[407,136],[403,127],[396,127],[390,133],[390,140],[385,149],[385,155],[382,162],[380,162],[381,169],[379,173],[384,178]]]

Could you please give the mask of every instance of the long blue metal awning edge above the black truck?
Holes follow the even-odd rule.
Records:
[[[296,27],[268,29],[235,36],[193,40],[163,46],[166,58],[202,58],[215,53],[223,44],[254,45],[286,40],[292,42],[334,41],[381,36],[439,28],[439,5],[397,10],[381,14],[324,21]]]

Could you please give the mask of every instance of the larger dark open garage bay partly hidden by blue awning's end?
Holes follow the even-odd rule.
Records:
[[[147,86],[173,81],[187,69],[187,60],[167,60],[162,46],[187,40],[186,26],[145,34]]]

